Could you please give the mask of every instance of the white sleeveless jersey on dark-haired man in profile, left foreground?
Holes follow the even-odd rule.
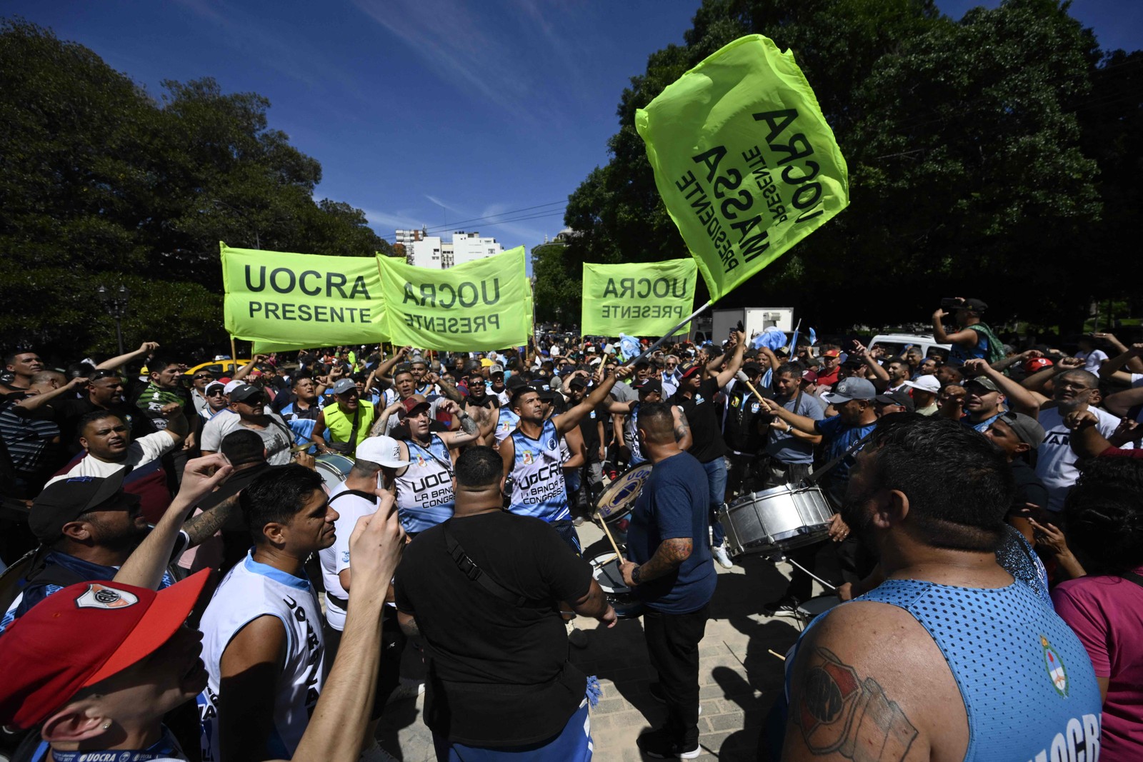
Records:
[[[209,681],[199,695],[202,721],[202,762],[219,762],[218,685],[223,651],[238,632],[262,616],[277,617],[286,627],[286,661],[274,696],[270,754],[294,755],[325,680],[326,647],[321,609],[307,579],[258,563],[250,555],[223,578],[202,613],[202,661]]]

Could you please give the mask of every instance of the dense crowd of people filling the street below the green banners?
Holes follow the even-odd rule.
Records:
[[[617,615],[577,528],[649,464],[614,523],[668,708],[646,755],[701,753],[732,508],[796,489],[826,513],[757,611],[802,612],[815,577],[841,603],[788,655],[774,759],[1143,759],[1143,344],[1005,344],[986,311],[943,304],[928,356],[741,329],[327,347],[226,376],[155,342],[15,350],[5,743],[383,760],[386,703],[424,692],[440,760],[591,759],[575,652]]]

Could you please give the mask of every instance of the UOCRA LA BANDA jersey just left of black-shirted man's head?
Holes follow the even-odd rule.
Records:
[[[422,532],[453,516],[453,460],[448,446],[431,434],[429,447],[406,440],[409,465],[397,478],[397,515],[407,532]]]

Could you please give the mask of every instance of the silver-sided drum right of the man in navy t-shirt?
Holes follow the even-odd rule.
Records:
[[[825,539],[834,514],[816,484],[752,492],[719,512],[730,555],[790,551]]]

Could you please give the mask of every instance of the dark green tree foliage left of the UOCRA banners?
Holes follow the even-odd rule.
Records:
[[[0,24],[0,345],[111,352],[103,282],[130,289],[131,342],[223,346],[219,240],[389,251],[361,210],[314,201],[321,166],[270,128],[264,97],[162,87],[157,101],[80,45]]]

